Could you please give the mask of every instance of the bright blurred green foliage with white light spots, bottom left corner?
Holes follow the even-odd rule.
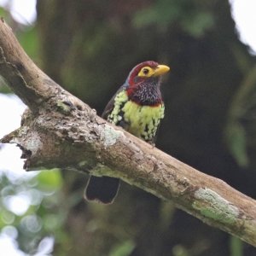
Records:
[[[32,255],[45,237],[55,244],[65,241],[63,224],[66,206],[60,201],[62,177],[59,171],[37,172],[32,177],[15,177],[12,172],[0,176],[0,229],[9,235],[6,226],[17,232],[20,249]]]

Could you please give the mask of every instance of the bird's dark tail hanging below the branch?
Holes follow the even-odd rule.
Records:
[[[88,201],[100,201],[103,204],[112,203],[119,190],[119,178],[90,176],[84,197]]]

